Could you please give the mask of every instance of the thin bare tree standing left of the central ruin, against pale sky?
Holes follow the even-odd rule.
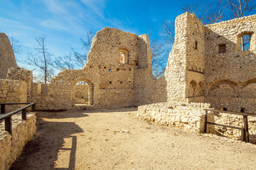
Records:
[[[34,47],[36,53],[28,53],[28,64],[39,69],[39,79],[42,79],[43,83],[47,83],[53,77],[53,67],[51,66],[52,55],[46,48],[46,35],[41,35],[35,39],[37,42],[37,45]]]

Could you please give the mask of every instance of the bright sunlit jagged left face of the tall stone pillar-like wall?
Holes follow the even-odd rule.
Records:
[[[164,76],[167,82],[168,101],[186,101],[186,46],[188,13],[177,16],[175,21],[175,42],[169,54]]]

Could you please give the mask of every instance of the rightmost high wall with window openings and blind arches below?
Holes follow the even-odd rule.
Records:
[[[206,102],[216,109],[256,113],[256,15],[206,26]],[[242,35],[250,50],[241,51]]]

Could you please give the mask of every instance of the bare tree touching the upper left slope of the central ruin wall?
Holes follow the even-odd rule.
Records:
[[[87,61],[87,54],[90,51],[90,47],[92,45],[92,38],[93,38],[94,35],[95,35],[94,31],[90,30],[86,33],[85,40],[80,38],[80,41],[82,43],[82,48],[85,50],[85,52],[83,54],[81,54],[80,52],[75,51],[73,49],[73,47],[71,47],[71,50],[72,50],[73,55],[75,57],[76,65],[78,65],[78,67],[84,67],[84,65]]]

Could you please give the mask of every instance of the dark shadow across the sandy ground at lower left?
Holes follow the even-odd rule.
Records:
[[[83,130],[74,122],[56,121],[56,118],[82,118],[88,116],[85,111],[36,114],[38,128],[33,140],[24,147],[21,157],[11,166],[11,169],[75,169],[75,152],[77,137],[75,133]],[[56,133],[56,131],[58,131]],[[70,146],[65,146],[65,140],[70,140]],[[62,159],[60,154],[68,152],[64,168],[55,167],[55,162]]]

